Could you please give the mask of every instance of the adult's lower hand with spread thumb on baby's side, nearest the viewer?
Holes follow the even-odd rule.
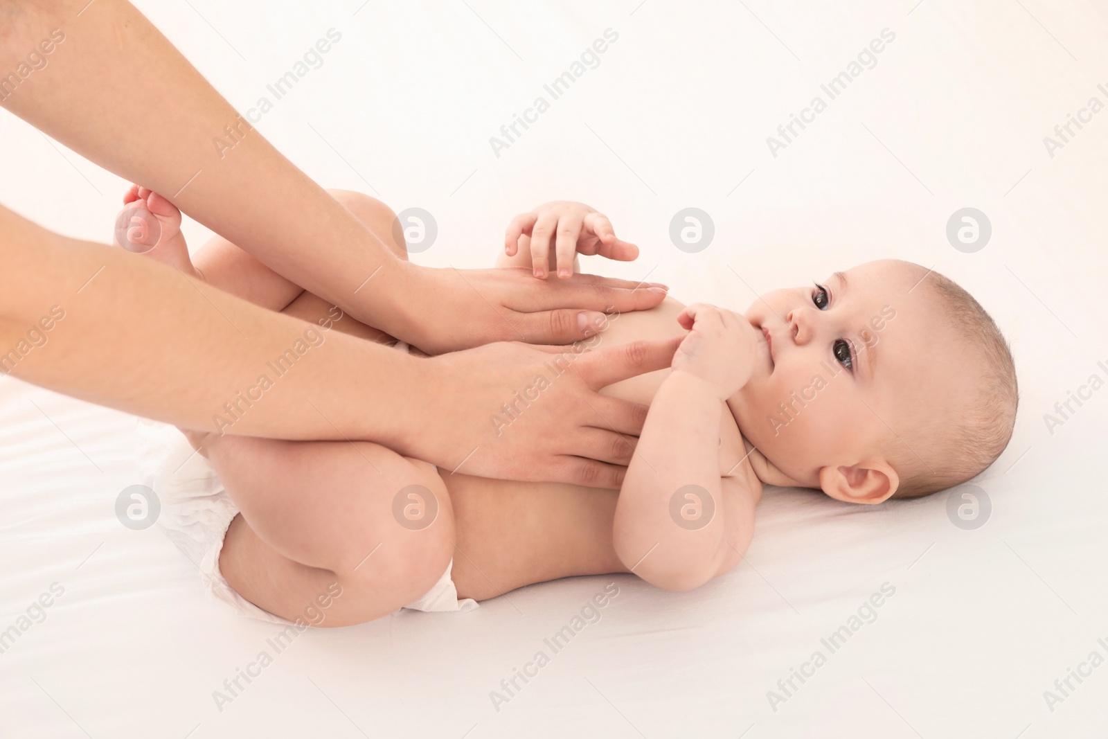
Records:
[[[668,367],[680,340],[501,342],[422,360],[429,391],[412,412],[427,421],[393,448],[462,474],[618,489],[648,407],[597,391]]]

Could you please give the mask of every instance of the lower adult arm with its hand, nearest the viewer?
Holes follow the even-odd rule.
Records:
[[[677,347],[497,342],[418,359],[3,207],[0,264],[0,374],[184,428],[371,440],[486,478],[618,487],[646,407],[597,390]],[[505,415],[540,374],[541,398]]]

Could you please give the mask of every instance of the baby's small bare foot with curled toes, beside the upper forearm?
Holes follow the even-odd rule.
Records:
[[[124,208],[115,219],[115,243],[127,252],[146,254],[189,277],[203,278],[193,267],[181,233],[181,211],[157,193],[131,185]]]

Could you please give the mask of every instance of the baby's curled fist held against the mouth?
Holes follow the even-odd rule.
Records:
[[[673,368],[716,386],[727,400],[750,379],[758,351],[757,329],[742,316],[694,302],[677,316],[689,330],[674,355]]]

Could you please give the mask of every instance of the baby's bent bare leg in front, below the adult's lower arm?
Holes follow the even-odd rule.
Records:
[[[193,441],[242,510],[219,568],[269,613],[305,619],[337,584],[314,625],[372,620],[427,593],[453,556],[450,496],[425,462],[369,442]]]

